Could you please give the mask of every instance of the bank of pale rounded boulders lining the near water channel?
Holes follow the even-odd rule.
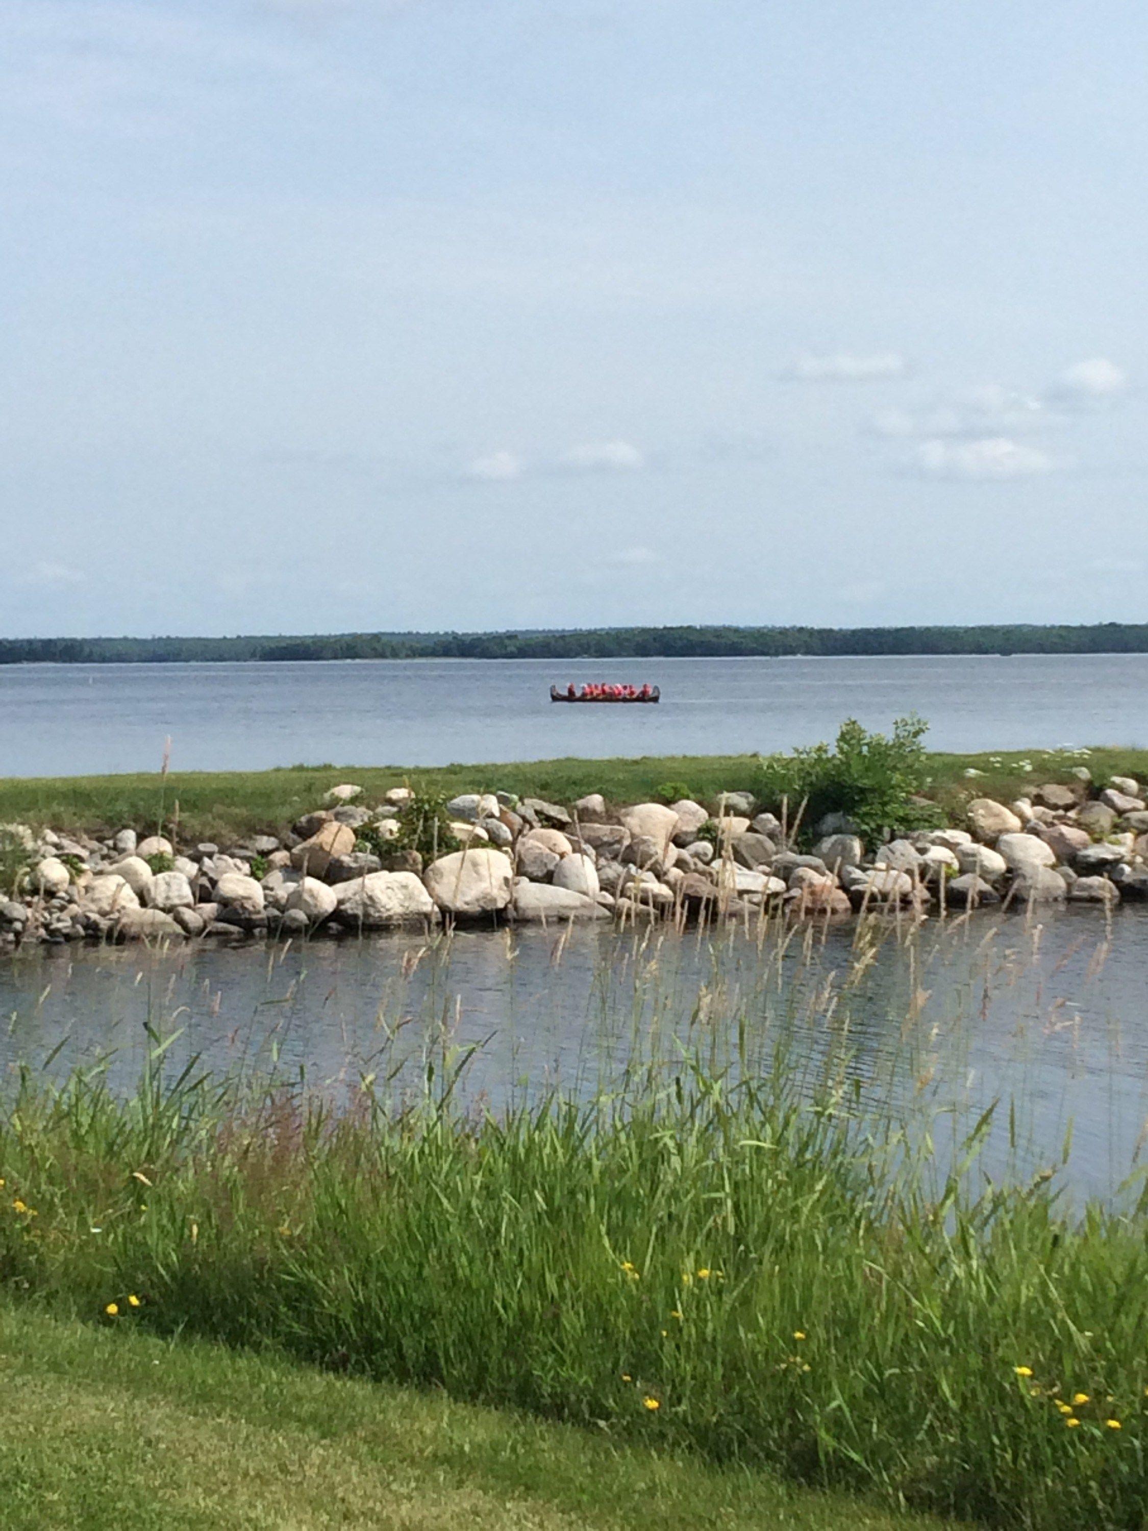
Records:
[[[377,804],[354,782],[283,834],[181,847],[0,825],[0,951],[118,940],[358,934],[442,920],[742,922],[865,912],[911,919],[998,905],[1148,899],[1145,788],[1085,769],[961,822],[866,845],[842,814],[810,848],[748,793],[710,804],[598,795],[569,805],[465,793],[427,818],[409,787]],[[424,848],[415,848],[415,811]],[[427,828],[430,825],[430,828]],[[427,848],[427,837],[430,844]],[[439,847],[442,853],[439,854]]]

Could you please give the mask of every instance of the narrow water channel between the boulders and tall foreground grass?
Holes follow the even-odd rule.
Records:
[[[609,1087],[634,1059],[698,1050],[713,1067],[787,1066],[813,1087],[848,1058],[862,1101],[888,1115],[926,1098],[954,1131],[1001,1108],[984,1168],[1059,1164],[1081,1193],[1128,1173],[1145,1122],[1148,912],[1110,923],[981,914],[886,929],[635,935],[597,926],[470,931],[432,942],[37,954],[0,968],[0,1059],[52,1072],[109,1059],[130,1089],[148,1032],[165,1067],[276,1069],[315,1087],[364,1075],[398,1095],[458,1066],[464,1099]],[[943,1151],[943,1150],[941,1150]]]

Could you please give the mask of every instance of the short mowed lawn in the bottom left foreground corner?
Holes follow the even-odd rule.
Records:
[[[0,1409],[6,1531],[940,1528],[442,1393],[34,1309],[0,1307]]]

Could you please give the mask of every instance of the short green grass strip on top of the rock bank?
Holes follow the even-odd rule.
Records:
[[[1024,769],[1024,762],[1032,770]],[[1064,781],[1079,756],[1059,752],[928,756],[931,796],[946,807],[963,796],[1009,801],[1036,781]],[[1111,775],[1148,778],[1148,750],[1096,749],[1087,758],[1097,781]],[[981,775],[966,778],[974,769]],[[663,785],[687,787],[709,801],[719,792],[753,792],[761,773],[756,755],[669,755],[640,759],[556,759],[511,764],[393,767],[315,766],[266,772],[173,772],[124,776],[0,778],[0,822],[20,819],[57,830],[116,830],[132,825],[155,831],[178,811],[187,841],[276,833],[320,801],[340,781],[361,784],[369,796],[401,782],[429,792],[485,792],[571,802],[600,792],[612,802],[640,802]]]

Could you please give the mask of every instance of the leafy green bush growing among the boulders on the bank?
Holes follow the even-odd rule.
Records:
[[[868,733],[846,718],[833,749],[814,744],[762,761],[758,796],[788,822],[801,814],[808,837],[827,813],[843,813],[869,841],[940,822],[935,805],[917,801],[928,784],[923,739],[928,723],[915,713],[897,718],[892,735]]]

